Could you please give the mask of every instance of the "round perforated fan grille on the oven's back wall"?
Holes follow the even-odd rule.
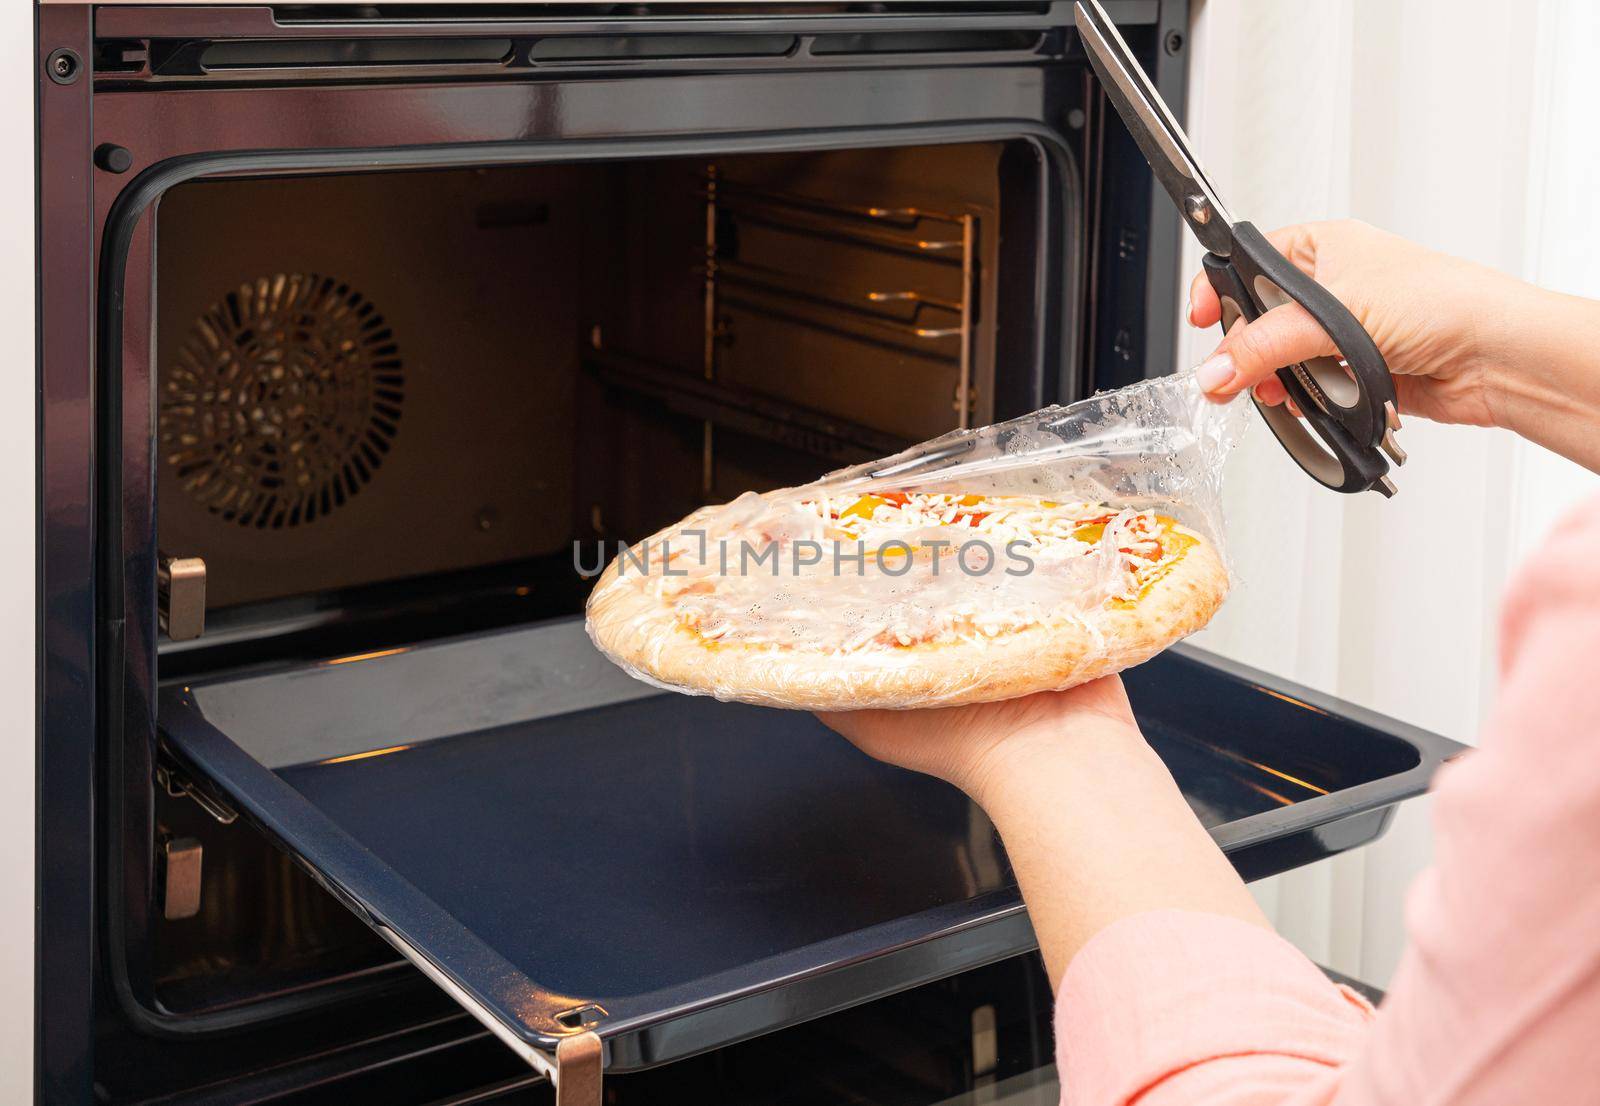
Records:
[[[243,527],[298,527],[371,482],[405,376],[384,317],[347,283],[275,274],[195,319],[162,378],[162,455],[179,485]]]

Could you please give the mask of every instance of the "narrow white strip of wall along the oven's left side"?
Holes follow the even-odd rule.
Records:
[[[0,11],[0,149],[34,147],[34,5]],[[0,174],[0,1103],[34,1098],[34,174]]]

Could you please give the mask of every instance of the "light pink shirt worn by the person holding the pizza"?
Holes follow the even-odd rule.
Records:
[[[1509,591],[1501,683],[1435,783],[1435,866],[1376,1013],[1258,927],[1128,917],[1061,983],[1062,1103],[1600,1103],[1600,499]]]

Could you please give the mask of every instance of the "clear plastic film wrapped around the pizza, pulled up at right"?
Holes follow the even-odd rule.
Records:
[[[1242,407],[1165,376],[704,507],[619,551],[589,634],[658,687],[813,711],[1120,671],[1227,591]]]

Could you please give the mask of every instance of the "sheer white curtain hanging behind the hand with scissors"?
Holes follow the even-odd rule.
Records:
[[[1355,216],[1600,298],[1595,42],[1586,0],[1200,0],[1189,131],[1235,218],[1262,229]],[[1192,365],[1216,331],[1182,330]],[[1314,485],[1253,421],[1227,480],[1240,584],[1197,642],[1475,741],[1506,579],[1600,479],[1499,431],[1410,419],[1400,440],[1411,461],[1386,503]],[[1378,845],[1258,898],[1307,954],[1381,984],[1429,853],[1413,800]]]

